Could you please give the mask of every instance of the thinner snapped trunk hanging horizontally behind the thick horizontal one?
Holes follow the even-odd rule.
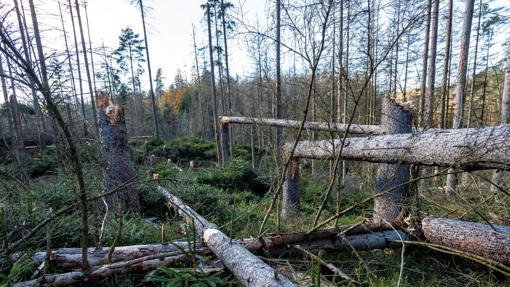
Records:
[[[294,128],[299,129],[301,122],[290,119],[257,118],[244,116],[220,116],[221,123],[243,124],[243,125],[263,125],[270,127]],[[313,131],[338,132],[347,131],[346,124],[334,124],[328,122],[305,122],[304,129]],[[380,131],[379,126],[369,125],[351,125],[348,133],[353,134],[376,134]]]

